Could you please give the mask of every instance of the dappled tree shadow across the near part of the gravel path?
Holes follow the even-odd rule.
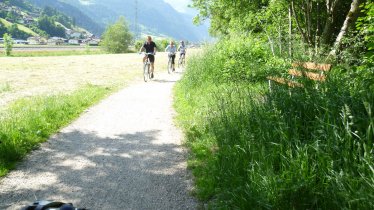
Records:
[[[179,145],[155,143],[159,135],[60,133],[17,167],[0,190],[0,209],[18,209],[35,197],[89,209],[194,209],[186,154]]]

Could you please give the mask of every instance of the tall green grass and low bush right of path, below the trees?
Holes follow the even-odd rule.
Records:
[[[336,67],[318,90],[269,91],[264,75],[287,61],[231,41],[191,59],[176,87],[196,195],[213,209],[373,209],[374,92],[350,78],[374,71]],[[224,74],[232,51],[249,56]],[[231,80],[240,71],[250,78]]]

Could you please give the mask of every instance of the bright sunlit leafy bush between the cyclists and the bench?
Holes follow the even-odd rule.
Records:
[[[214,84],[263,81],[286,66],[283,59],[271,56],[261,39],[243,36],[221,40],[189,65],[192,71],[202,69],[186,76],[194,77],[196,86],[207,81]]]

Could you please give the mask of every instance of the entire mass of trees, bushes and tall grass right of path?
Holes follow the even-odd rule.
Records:
[[[197,197],[211,209],[373,209],[373,1],[192,6],[218,40],[175,90]],[[305,62],[331,69],[292,77]]]

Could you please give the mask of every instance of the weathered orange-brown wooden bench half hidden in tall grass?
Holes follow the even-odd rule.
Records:
[[[277,82],[280,84],[288,85],[289,87],[304,87],[300,82],[295,81],[295,77],[308,78],[314,81],[324,82],[326,80],[325,72],[330,71],[331,64],[320,64],[313,62],[295,62],[292,63],[292,68],[288,70],[288,74],[291,75],[291,79],[282,77],[267,77],[269,81],[269,88],[271,90],[271,82]],[[318,88],[318,85],[317,85]]]

